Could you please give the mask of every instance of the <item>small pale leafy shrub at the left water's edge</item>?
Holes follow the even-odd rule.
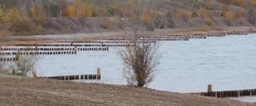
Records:
[[[37,51],[30,51],[29,48],[25,51],[26,55],[16,56],[14,64],[11,66],[12,75],[27,76],[29,73],[33,72],[35,65],[37,64],[38,57],[35,54]],[[19,53],[19,52],[18,52]]]

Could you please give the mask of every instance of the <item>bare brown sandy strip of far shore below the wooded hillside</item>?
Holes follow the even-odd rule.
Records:
[[[154,37],[166,36],[189,36],[191,34],[211,34],[211,33],[227,33],[234,31],[256,31],[256,26],[234,26],[224,27],[222,29],[213,28],[211,31],[201,31],[199,28],[195,29],[157,29],[154,31]],[[0,45],[19,45],[19,44],[42,44],[42,43],[56,43],[56,42],[76,42],[76,41],[95,41],[95,40],[118,40],[124,39],[124,34],[131,34],[129,31],[97,31],[89,33],[77,34],[48,34],[48,35],[31,35],[31,36],[12,36],[1,37]]]

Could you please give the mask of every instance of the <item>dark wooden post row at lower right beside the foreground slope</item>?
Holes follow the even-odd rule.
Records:
[[[213,96],[217,98],[224,97],[239,97],[239,96],[255,96],[255,89],[246,89],[246,90],[235,90],[235,91],[212,91],[212,85],[208,85],[208,92],[198,92],[198,93],[187,93],[195,94],[200,96]]]

